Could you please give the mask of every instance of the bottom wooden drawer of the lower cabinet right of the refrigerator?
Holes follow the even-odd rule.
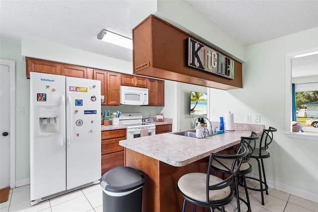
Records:
[[[102,175],[117,166],[124,166],[124,151],[110,153],[101,156]]]

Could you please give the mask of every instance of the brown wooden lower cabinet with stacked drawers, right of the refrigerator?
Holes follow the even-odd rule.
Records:
[[[119,145],[120,140],[126,139],[126,129],[115,129],[101,132],[101,174],[124,166],[124,147]]]

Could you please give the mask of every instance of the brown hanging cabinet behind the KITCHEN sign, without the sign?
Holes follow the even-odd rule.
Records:
[[[133,29],[133,74],[189,83],[222,90],[242,88],[242,64],[234,60],[234,79],[187,66],[186,39],[193,38],[209,46],[172,24],[148,16]]]

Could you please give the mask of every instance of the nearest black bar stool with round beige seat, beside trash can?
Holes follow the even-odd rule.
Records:
[[[231,188],[232,181],[239,171],[243,158],[247,154],[248,149],[245,145],[240,145],[238,153],[234,155],[211,153],[207,173],[188,173],[183,175],[177,183],[177,189],[184,198],[182,212],[185,212],[186,202],[194,204],[193,212],[196,211],[197,205],[208,207],[211,212],[214,212],[215,208],[225,212],[224,206],[230,203],[234,197],[234,191]],[[212,162],[216,161],[222,165],[221,159],[232,161],[232,166],[227,168],[231,174],[225,180],[210,174]],[[224,164],[223,166],[226,167]]]

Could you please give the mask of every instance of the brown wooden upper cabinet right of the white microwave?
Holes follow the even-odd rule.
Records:
[[[164,81],[149,78],[148,90],[148,106],[164,106]]]

